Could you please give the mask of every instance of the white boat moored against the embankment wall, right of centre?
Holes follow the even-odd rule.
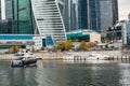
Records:
[[[102,54],[92,53],[86,59],[87,60],[107,60],[108,57],[109,57],[108,55],[102,55]]]

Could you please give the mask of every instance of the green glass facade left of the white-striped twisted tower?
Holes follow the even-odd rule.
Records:
[[[13,0],[14,33],[34,34],[30,0]]]

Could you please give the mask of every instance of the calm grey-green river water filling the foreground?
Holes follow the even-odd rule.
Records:
[[[25,68],[0,61],[0,86],[130,86],[130,61],[39,60]]]

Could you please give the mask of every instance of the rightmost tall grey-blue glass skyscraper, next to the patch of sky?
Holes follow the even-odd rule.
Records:
[[[117,0],[100,0],[100,28],[104,33],[118,20]]]

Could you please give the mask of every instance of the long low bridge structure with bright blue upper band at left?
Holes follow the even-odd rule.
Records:
[[[0,46],[32,45],[32,34],[0,34]]]

